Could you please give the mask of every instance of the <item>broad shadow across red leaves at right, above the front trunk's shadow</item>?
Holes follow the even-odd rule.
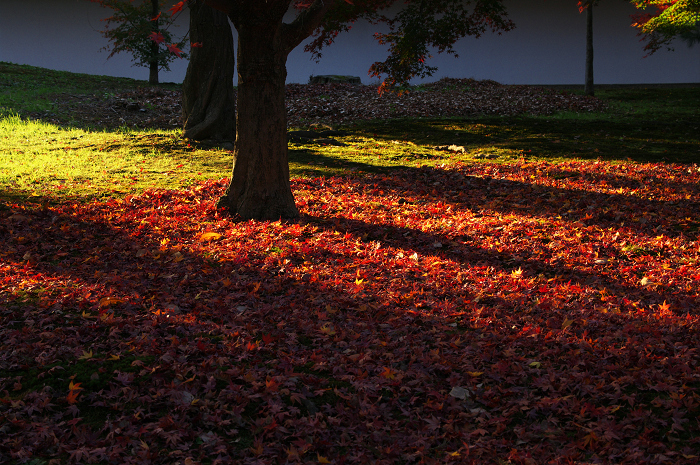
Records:
[[[419,202],[429,200],[472,212],[560,218],[580,226],[624,227],[650,237],[665,234],[697,238],[694,212],[700,209],[700,199],[696,183],[659,178],[654,170],[643,174],[640,180],[638,173],[601,173],[587,171],[582,165],[580,168],[575,171],[546,167],[543,173],[538,165],[466,165],[447,170],[422,167],[368,180],[349,178],[347,183],[367,185],[396,200],[412,198],[416,208],[421,208]],[[679,170],[684,173],[687,169]],[[540,177],[542,183],[520,180],[531,177]],[[632,190],[613,193],[620,188]],[[672,196],[664,200],[664,193]]]

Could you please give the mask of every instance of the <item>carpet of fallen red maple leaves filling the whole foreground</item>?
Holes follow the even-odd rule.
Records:
[[[292,187],[0,210],[0,463],[698,462],[700,168]]]

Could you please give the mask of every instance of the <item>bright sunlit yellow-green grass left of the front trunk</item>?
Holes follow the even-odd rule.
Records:
[[[176,131],[89,131],[10,116],[0,119],[3,195],[92,198],[178,188],[219,178],[230,153],[205,150]]]

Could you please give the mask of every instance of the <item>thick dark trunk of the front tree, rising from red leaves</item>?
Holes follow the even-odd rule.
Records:
[[[268,10],[269,11],[269,10]],[[238,101],[233,173],[218,206],[243,218],[299,215],[289,182],[281,20],[231,17],[238,31]],[[270,13],[267,13],[270,14]]]

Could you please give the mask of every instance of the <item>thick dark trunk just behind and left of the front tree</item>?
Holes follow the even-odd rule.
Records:
[[[190,1],[193,47],[182,86],[183,136],[194,140],[234,140],[235,56],[228,17],[201,2]]]

